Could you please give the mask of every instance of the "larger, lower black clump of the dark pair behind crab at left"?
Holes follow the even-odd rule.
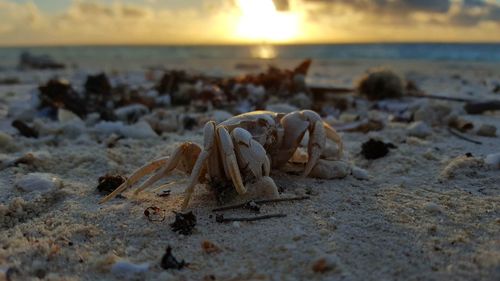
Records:
[[[64,108],[80,118],[87,114],[85,101],[66,80],[51,79],[45,85],[38,87],[38,90],[42,108],[49,107],[54,110]]]

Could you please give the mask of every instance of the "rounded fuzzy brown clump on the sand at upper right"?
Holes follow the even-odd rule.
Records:
[[[403,80],[388,69],[372,69],[363,76],[357,91],[368,100],[400,98],[404,94]]]

